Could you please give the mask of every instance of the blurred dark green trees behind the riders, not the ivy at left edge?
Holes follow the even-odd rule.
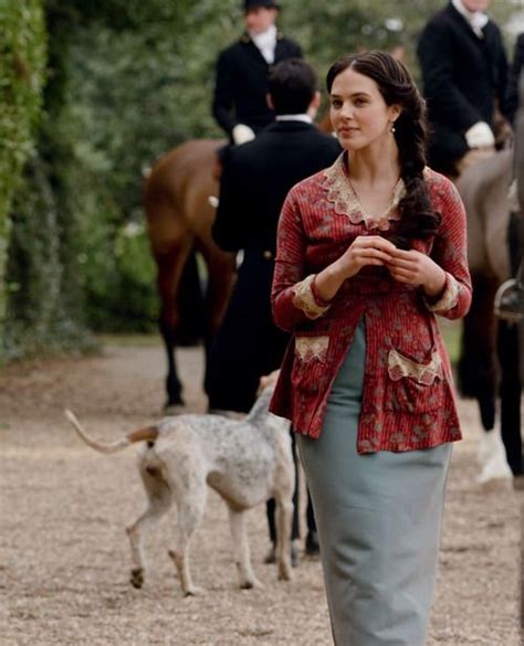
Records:
[[[321,82],[344,52],[399,44],[417,76],[417,34],[443,1],[284,0],[281,25],[302,44]],[[213,67],[218,52],[242,30],[240,4],[44,0],[45,118],[12,212],[12,354],[23,353],[31,335],[32,348],[82,347],[85,325],[107,331],[155,326],[143,176],[181,141],[222,136],[210,114]],[[510,3],[492,9],[507,22]],[[0,169],[0,187],[2,173],[15,174]]]

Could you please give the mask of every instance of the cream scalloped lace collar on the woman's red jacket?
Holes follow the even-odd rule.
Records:
[[[379,218],[371,215],[366,212],[350,184],[344,161],[345,155],[343,152],[335,163],[324,171],[325,180],[322,186],[327,190],[327,201],[333,203],[335,213],[347,215],[353,224],[364,222],[366,229],[387,231],[391,220],[400,220],[397,206],[404,195],[404,181],[398,180],[387,210]]]

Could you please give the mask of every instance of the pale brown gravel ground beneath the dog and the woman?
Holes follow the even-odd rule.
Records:
[[[181,350],[179,361],[189,407],[202,411],[201,352]],[[139,342],[0,372],[0,644],[329,645],[319,562],[303,559],[294,581],[277,582],[262,564],[263,506],[250,515],[250,540],[264,590],[237,589],[227,511],[213,493],[192,550],[206,594],[181,596],[167,555],[175,515],[149,534],[144,589],[129,585],[124,527],[144,504],[135,449],[94,453],[62,410],[116,438],[158,417],[163,377],[161,348]],[[461,402],[461,414],[428,646],[517,646],[522,494],[475,484],[476,409]]]

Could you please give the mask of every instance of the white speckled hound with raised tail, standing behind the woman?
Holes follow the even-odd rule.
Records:
[[[144,582],[143,529],[157,521],[175,502],[177,531],[175,550],[169,555],[175,561],[184,594],[197,594],[189,570],[189,542],[205,511],[207,485],[222,496],[229,508],[240,586],[261,586],[251,566],[245,510],[269,498],[274,498],[277,506],[279,579],[291,579],[294,467],[289,424],[268,410],[273,385],[265,385],[244,420],[198,414],[165,417],[113,444],[88,437],[74,414],[65,412],[81,438],[102,453],[144,443],[138,468],[148,506],[127,528],[133,558],[130,581],[135,587],[142,587]]]

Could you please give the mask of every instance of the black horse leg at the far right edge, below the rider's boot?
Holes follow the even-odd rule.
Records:
[[[518,326],[499,321],[497,356],[501,364],[501,432],[513,475],[522,474]]]

